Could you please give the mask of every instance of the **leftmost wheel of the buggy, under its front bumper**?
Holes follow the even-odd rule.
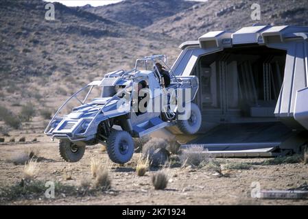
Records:
[[[60,140],[59,152],[60,156],[66,162],[78,162],[84,156],[86,146],[77,146],[68,140]]]

